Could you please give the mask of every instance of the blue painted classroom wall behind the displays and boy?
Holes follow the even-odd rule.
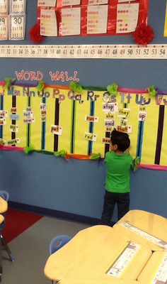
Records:
[[[26,38],[1,44],[33,44],[28,30],[35,24],[37,1],[27,0]],[[152,43],[167,43],[163,38],[166,1],[149,1],[149,24],[155,38]],[[133,44],[131,35],[45,38],[42,44]],[[49,72],[78,72],[79,83],[106,87],[146,89],[155,84],[167,90],[166,60],[65,60],[0,58],[0,80],[15,77],[15,71],[40,70],[51,84]],[[32,83],[32,82],[31,82]],[[33,82],[35,83],[35,82]],[[64,84],[56,82],[57,84]],[[67,84],[67,83],[66,83]],[[149,148],[149,145],[148,145]],[[52,155],[18,152],[1,153],[1,189],[8,190],[10,201],[86,217],[100,218],[103,207],[105,165],[97,161],[64,160]],[[131,178],[131,209],[143,209],[167,217],[166,171],[138,170]],[[116,219],[116,212],[114,215]]]

